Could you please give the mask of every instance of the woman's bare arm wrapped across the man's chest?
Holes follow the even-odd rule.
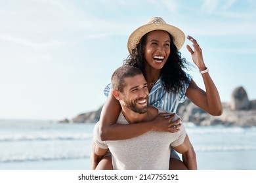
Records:
[[[171,122],[174,115],[171,118],[165,118],[166,116],[170,116],[169,113],[159,114],[150,122],[123,125],[116,124],[120,112],[121,105],[114,95],[112,95],[112,92],[110,92],[100,114],[100,139],[102,141],[131,139],[152,130],[168,131],[171,133],[179,131],[179,125],[177,126],[178,129],[177,127],[173,129],[173,124],[178,124],[179,119]]]

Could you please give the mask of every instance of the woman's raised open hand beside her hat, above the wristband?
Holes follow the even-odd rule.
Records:
[[[194,63],[196,64],[196,66],[198,66],[198,69],[200,71],[205,70],[205,63],[203,62],[203,54],[202,54],[202,49],[200,48],[198,42],[196,42],[196,40],[194,38],[192,38],[190,35],[188,35],[188,37],[186,37],[189,41],[191,41],[194,46],[194,51],[192,50],[192,48],[188,45],[186,45],[186,48],[188,49],[188,52],[190,52],[192,59],[194,61]]]

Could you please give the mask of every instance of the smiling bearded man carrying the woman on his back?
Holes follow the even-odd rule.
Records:
[[[112,93],[121,105],[118,124],[133,124],[150,121],[159,113],[160,108],[148,106],[148,84],[141,71],[136,67],[123,65],[112,75]],[[166,113],[165,113],[166,114]],[[176,120],[175,114],[163,118]],[[101,141],[98,123],[95,125],[91,169],[110,150],[114,169],[169,169],[170,146],[182,154],[188,169],[197,169],[196,154],[184,125],[180,124],[177,133],[148,131],[143,135],[119,141]]]

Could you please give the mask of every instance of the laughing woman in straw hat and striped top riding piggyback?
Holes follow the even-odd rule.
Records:
[[[179,103],[188,97],[209,114],[221,115],[221,99],[203,61],[202,50],[196,40],[190,36],[187,38],[193,43],[194,51],[190,46],[186,47],[202,74],[206,92],[196,85],[192,76],[182,70],[186,68],[186,60],[181,58],[178,50],[184,44],[184,33],[177,27],[166,24],[162,18],[150,19],[131,34],[128,40],[130,55],[125,64],[138,67],[144,74],[150,91],[150,105],[176,112]],[[109,92],[110,88],[106,90]],[[103,141],[129,139],[150,130],[171,133],[179,130],[177,125],[170,125],[163,118],[164,114],[160,114],[152,122],[119,125],[116,120],[120,111],[118,101],[112,94],[109,95],[100,116],[100,137]],[[174,151],[171,152],[170,169],[186,169],[179,156]],[[98,169],[112,169],[111,157],[104,157],[98,163]]]

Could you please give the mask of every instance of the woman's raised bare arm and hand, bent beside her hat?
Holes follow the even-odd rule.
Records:
[[[194,40],[192,37],[188,36],[188,39],[193,43],[194,46],[194,51],[192,48],[190,48],[190,46],[186,46],[192,56],[194,63],[198,66],[200,71],[205,70],[206,67],[203,61],[202,49],[196,40]],[[186,90],[186,96],[188,99],[190,99],[190,101],[192,101],[192,103],[202,108],[209,114],[213,116],[219,116],[223,112],[219,92],[209,73],[202,74],[202,77],[206,92],[199,88],[194,80],[191,80],[190,85]]]

